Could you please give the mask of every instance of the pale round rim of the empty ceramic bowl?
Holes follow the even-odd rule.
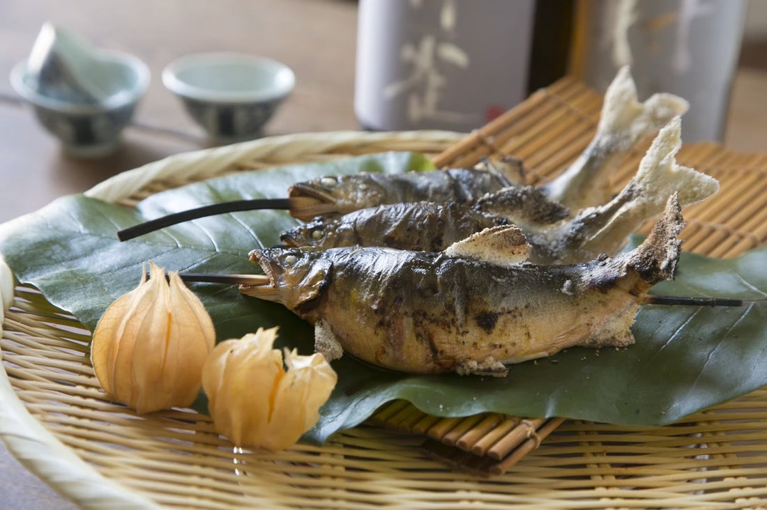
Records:
[[[186,71],[191,67],[222,63],[242,64],[246,67],[265,67],[273,74],[283,72],[289,79],[281,87],[272,87],[271,90],[214,91],[189,84],[179,78],[181,71]],[[235,51],[208,51],[185,55],[166,65],[163,69],[162,78],[163,85],[173,94],[186,99],[209,103],[244,104],[278,100],[290,94],[295,87],[295,73],[287,65],[272,58]]]

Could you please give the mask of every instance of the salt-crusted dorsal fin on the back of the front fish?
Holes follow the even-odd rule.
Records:
[[[500,225],[449,245],[448,257],[476,258],[494,265],[515,265],[527,260],[530,245],[516,225]]]

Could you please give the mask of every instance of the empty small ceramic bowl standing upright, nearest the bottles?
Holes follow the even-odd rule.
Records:
[[[201,53],[171,62],[163,84],[214,140],[259,137],[264,124],[290,94],[295,75],[268,58],[239,53]]]

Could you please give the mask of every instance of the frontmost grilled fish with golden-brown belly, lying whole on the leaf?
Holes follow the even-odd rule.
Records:
[[[317,347],[328,355],[340,346],[409,373],[503,375],[503,364],[566,347],[633,343],[639,299],[673,277],[682,226],[673,196],[639,248],[562,266],[498,265],[390,248],[272,248],[251,255],[269,287],[241,290],[278,295],[315,324]]]

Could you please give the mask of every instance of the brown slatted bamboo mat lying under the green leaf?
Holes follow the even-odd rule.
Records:
[[[600,94],[565,78],[538,90],[434,162],[440,167],[472,166],[485,158],[512,156],[525,163],[526,183],[545,183],[567,168],[591,141],[601,106]],[[645,140],[621,163],[613,179],[614,191],[634,176],[650,142]],[[721,184],[715,196],[684,209],[686,228],[680,237],[686,251],[735,257],[767,240],[767,154],[736,153],[716,143],[695,143],[683,146],[676,159],[716,177]],[[647,222],[641,231],[647,234],[651,226]],[[479,475],[502,474],[564,421],[492,413],[440,420],[403,401],[384,406],[372,420],[427,436],[430,440],[424,448],[435,459]]]

